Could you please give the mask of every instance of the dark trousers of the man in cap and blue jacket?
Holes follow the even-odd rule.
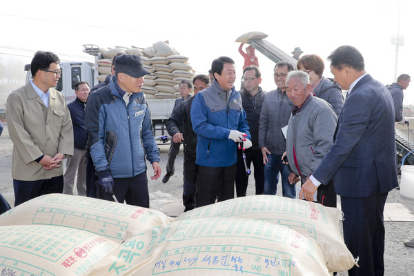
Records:
[[[112,195],[108,195],[98,187],[97,182],[97,198],[108,201],[115,201]],[[148,193],[148,178],[146,172],[142,172],[135,177],[114,178],[114,195],[119,203],[135,205],[150,208],[150,195]]]

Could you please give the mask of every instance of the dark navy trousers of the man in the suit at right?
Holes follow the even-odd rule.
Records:
[[[388,193],[371,197],[341,197],[344,212],[344,240],[348,250],[359,257],[359,268],[349,276],[384,275],[384,206]]]

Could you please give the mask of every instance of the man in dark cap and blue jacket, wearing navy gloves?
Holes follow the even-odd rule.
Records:
[[[146,161],[161,175],[159,150],[152,132],[150,110],[141,92],[150,72],[141,58],[121,55],[115,59],[115,76],[108,86],[88,98],[85,123],[90,155],[97,171],[97,197],[148,208]]]

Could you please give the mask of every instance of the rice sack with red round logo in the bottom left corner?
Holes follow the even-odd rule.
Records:
[[[83,230],[59,226],[0,227],[1,275],[77,276],[119,244]]]

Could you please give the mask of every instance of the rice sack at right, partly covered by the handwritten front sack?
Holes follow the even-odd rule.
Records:
[[[348,270],[355,264],[339,229],[341,212],[337,208],[288,197],[255,195],[196,208],[176,220],[201,217],[261,219],[281,224],[315,239],[324,250],[329,271]]]

